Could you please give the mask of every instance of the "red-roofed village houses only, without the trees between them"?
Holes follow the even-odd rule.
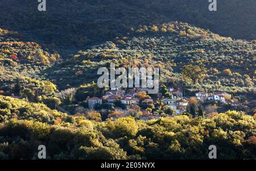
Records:
[[[164,98],[159,99],[161,97],[161,94],[159,93],[157,96],[160,100],[160,102],[163,102],[164,105],[170,106],[177,115],[182,114],[183,112],[187,111],[187,108],[189,106],[189,98],[183,97],[183,93],[179,90],[174,90],[173,88],[168,89],[170,93],[172,94],[172,98]],[[108,104],[110,106],[115,106],[114,103],[119,102],[122,105],[126,106],[126,109],[129,110],[133,106],[137,106],[139,104],[154,104],[155,101],[151,99],[150,97],[144,99],[142,102],[138,99],[138,93],[140,91],[148,91],[147,87],[140,87],[140,88],[130,88],[126,91],[119,90],[118,88],[112,88],[109,91],[106,92],[106,94],[101,97],[93,97],[88,99],[88,105],[89,109],[94,109],[94,107],[97,104]],[[226,92],[216,92],[216,93],[207,93],[199,91],[195,94],[195,97],[200,102],[205,101],[216,101],[220,103],[226,103],[227,99],[230,97],[230,94]],[[229,98],[230,99],[230,98]],[[237,101],[230,101],[230,104],[234,107],[239,106],[240,104]],[[125,111],[121,107],[115,107],[114,111],[121,112],[123,115],[125,115]],[[147,110],[142,111],[143,114],[141,115],[141,119],[157,119],[159,115],[153,115]],[[120,117],[122,115],[119,115]],[[166,115],[165,115],[166,116]]]

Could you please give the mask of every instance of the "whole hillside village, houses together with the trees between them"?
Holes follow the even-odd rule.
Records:
[[[147,91],[147,87],[127,88],[126,90],[111,88],[102,97],[88,98],[88,107],[91,111],[100,112],[102,106],[105,106],[105,109],[110,109],[108,115],[110,119],[133,115],[137,116],[138,119],[150,120],[189,113],[189,107],[195,101],[197,106],[200,105],[200,108],[204,107],[205,110],[209,108],[209,104],[213,104],[210,105],[215,108],[213,111],[221,110],[222,106],[225,105],[229,105],[232,109],[241,106],[237,99],[232,99],[232,95],[226,92],[207,93],[198,91],[195,96],[185,97],[182,91],[169,87],[168,91],[171,93],[171,98],[165,98],[162,93],[150,97],[150,95],[147,95]],[[255,102],[251,101],[249,106],[255,106]],[[165,114],[162,114],[152,110],[157,107],[168,108],[172,111],[165,111]],[[211,110],[209,109],[209,111]]]

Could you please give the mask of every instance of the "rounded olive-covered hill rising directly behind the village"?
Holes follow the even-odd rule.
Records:
[[[208,77],[191,90],[251,93],[255,92],[255,46],[254,41],[234,41],[187,23],[170,22],[134,28],[125,37],[79,51],[45,71],[65,89],[97,81],[97,69],[110,62],[125,68],[158,66],[162,82],[179,80],[181,68],[193,64],[207,68]]]

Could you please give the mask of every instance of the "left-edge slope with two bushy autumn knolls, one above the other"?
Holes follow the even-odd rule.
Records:
[[[26,91],[26,97],[34,100],[38,95],[53,94],[56,86],[44,79],[41,72],[59,59],[56,51],[28,41],[18,32],[0,28],[1,94],[23,96]]]

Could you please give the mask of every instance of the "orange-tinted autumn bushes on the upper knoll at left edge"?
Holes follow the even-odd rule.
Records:
[[[20,41],[22,36],[18,32],[2,30],[0,28],[0,62],[6,66],[24,64],[51,65],[59,59],[59,54],[49,54],[43,48],[30,41]]]

